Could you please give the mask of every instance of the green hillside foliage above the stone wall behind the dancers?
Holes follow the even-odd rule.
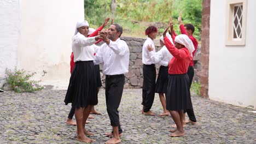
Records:
[[[106,17],[112,17],[110,3],[111,0],[84,0],[85,19],[89,21],[90,27],[97,28]],[[161,22],[158,28],[162,33],[171,16],[174,30],[180,34],[177,21],[180,11],[183,23],[193,24],[193,35],[200,40],[202,0],[117,0],[117,9],[112,18],[123,26],[124,35],[144,37],[148,26],[143,22]]]

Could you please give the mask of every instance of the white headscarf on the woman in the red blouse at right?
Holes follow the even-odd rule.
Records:
[[[189,39],[188,35],[180,34],[175,37],[174,41],[184,45],[189,50],[191,57],[193,57],[192,52],[195,50],[195,47],[193,45],[193,42]]]

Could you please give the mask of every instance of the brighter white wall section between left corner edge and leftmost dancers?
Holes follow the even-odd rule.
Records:
[[[66,89],[71,38],[84,20],[83,0],[20,0],[18,68],[36,72],[41,85]]]

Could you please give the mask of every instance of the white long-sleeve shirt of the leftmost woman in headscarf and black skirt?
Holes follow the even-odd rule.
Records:
[[[94,52],[96,49],[95,37],[86,38],[79,32],[72,38],[72,51],[74,53],[74,62],[94,61]]]

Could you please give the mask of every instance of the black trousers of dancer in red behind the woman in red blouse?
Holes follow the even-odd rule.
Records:
[[[189,66],[189,68],[188,68],[189,88],[192,85],[194,73],[195,73],[194,67],[193,66]],[[186,113],[186,112],[188,113],[188,117],[189,117],[190,121],[196,122],[194,110],[193,109],[184,110],[184,113]]]

